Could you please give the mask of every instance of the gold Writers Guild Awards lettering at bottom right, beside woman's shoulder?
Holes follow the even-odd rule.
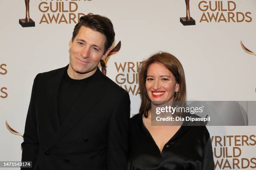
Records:
[[[211,137],[215,169],[234,170],[256,168],[256,157],[246,156],[250,150],[255,150],[256,136],[225,135]]]

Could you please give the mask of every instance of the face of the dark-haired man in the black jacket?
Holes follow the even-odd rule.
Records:
[[[108,56],[109,49],[105,54],[106,37],[100,32],[81,26],[73,42],[69,42],[69,67],[72,74],[92,75],[101,59]]]

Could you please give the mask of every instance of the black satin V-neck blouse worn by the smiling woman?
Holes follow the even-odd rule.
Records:
[[[139,113],[130,120],[128,170],[214,170],[210,135],[205,126],[181,126],[160,153],[142,116]]]

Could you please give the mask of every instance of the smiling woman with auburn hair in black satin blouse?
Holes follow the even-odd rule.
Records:
[[[205,126],[153,126],[151,101],[186,101],[181,63],[156,53],[139,69],[140,113],[131,118],[128,170],[214,170],[210,135]]]

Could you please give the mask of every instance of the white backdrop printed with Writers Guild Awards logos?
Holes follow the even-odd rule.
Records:
[[[23,142],[5,120],[23,134],[34,77],[68,64],[74,25],[88,13],[113,22],[115,45],[122,45],[108,60],[107,76],[129,92],[131,114],[140,105],[138,65],[158,51],[182,63],[188,100],[256,100],[256,0],[190,0],[196,25],[187,26],[180,22],[184,0],[31,0],[29,11],[35,27],[23,28],[24,0],[0,0],[2,161],[20,160]],[[216,170],[256,169],[256,126],[207,128]]]

